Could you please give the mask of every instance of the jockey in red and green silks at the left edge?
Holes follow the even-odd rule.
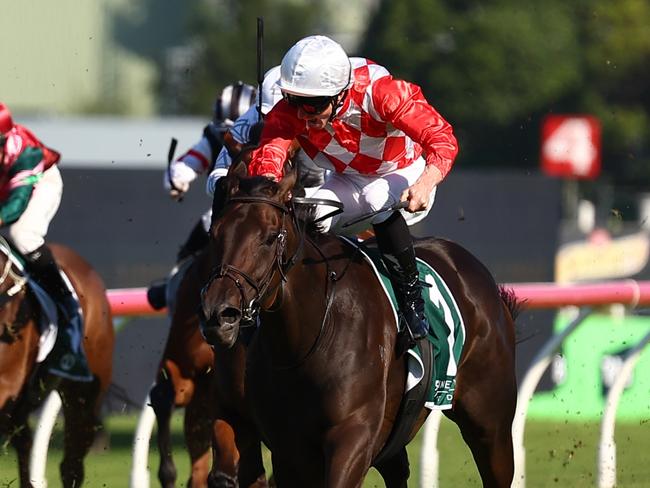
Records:
[[[7,106],[0,103],[0,227],[9,227],[9,236],[25,257],[30,277],[57,304],[61,328],[57,347],[48,358],[49,371],[68,379],[92,381],[81,345],[79,304],[45,244],[63,192],[57,167],[60,157],[29,129],[15,124]]]

